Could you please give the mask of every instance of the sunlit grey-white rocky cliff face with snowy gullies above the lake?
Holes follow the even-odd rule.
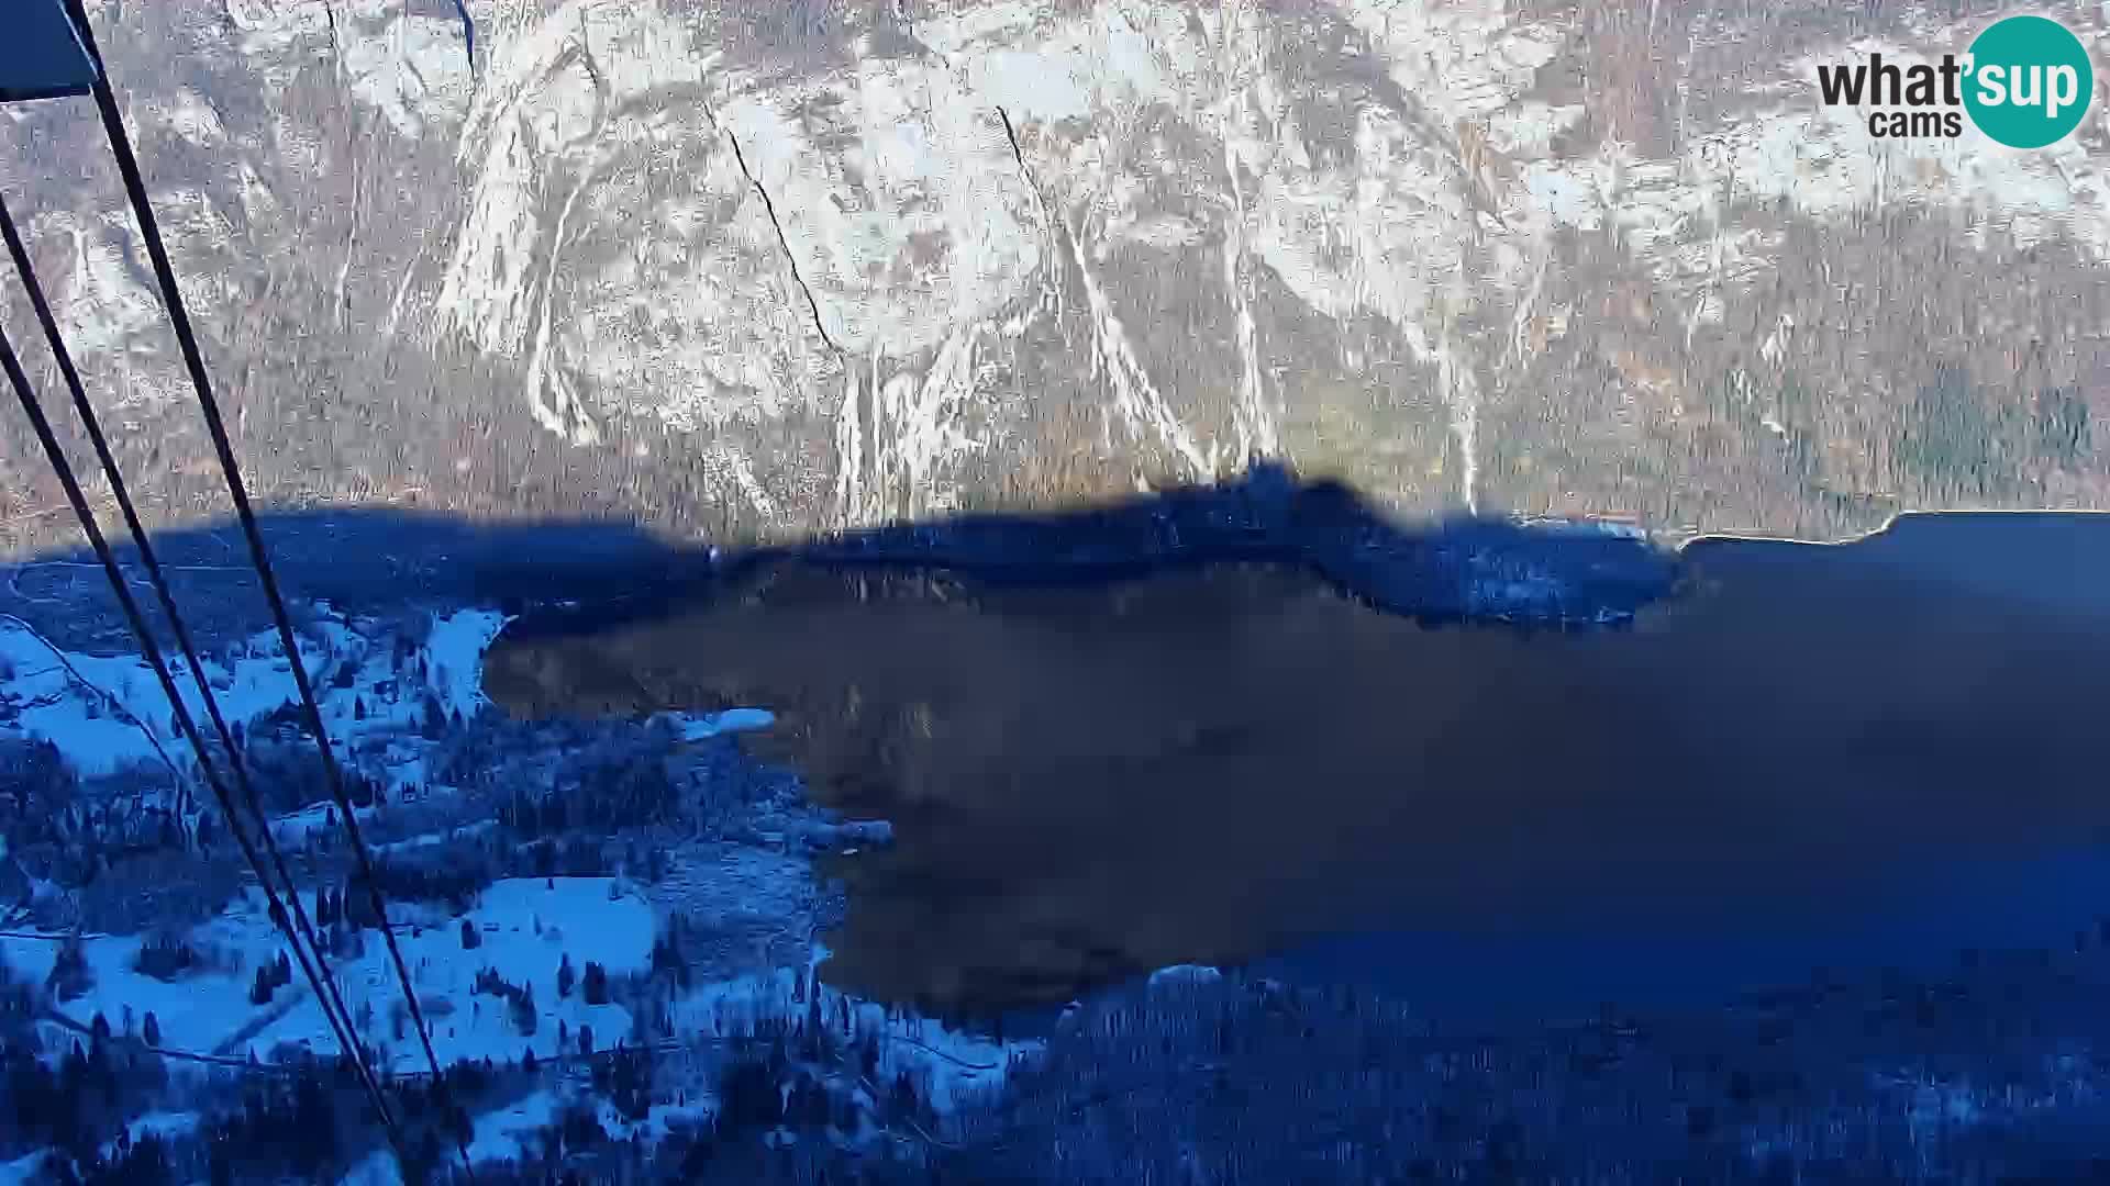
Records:
[[[1669,530],[2110,504],[2104,106],[2009,152],[1815,93],[1964,8],[91,4],[266,496],[713,536],[1251,454]],[[0,135],[150,509],[213,513],[93,112]]]

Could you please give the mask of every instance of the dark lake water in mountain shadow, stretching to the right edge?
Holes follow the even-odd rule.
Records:
[[[931,1009],[1253,962],[1471,1026],[2095,933],[2110,517],[1671,568],[1627,629],[1519,629],[1251,557],[1068,582],[779,557],[502,639],[487,686],[525,713],[776,709],[753,745],[895,821],[827,865],[825,975]]]

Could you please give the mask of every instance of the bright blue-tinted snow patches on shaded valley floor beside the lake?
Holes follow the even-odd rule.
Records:
[[[422,781],[424,749],[416,743],[416,726],[428,711],[428,701],[441,711],[464,718],[490,701],[481,690],[481,658],[506,625],[494,610],[460,610],[437,614],[422,639],[414,639],[411,656],[397,658],[397,637],[373,623],[352,623],[316,606],[302,625],[300,663],[316,690],[325,724],[338,745],[367,745],[367,758],[380,755],[380,768],[392,783]],[[137,762],[158,762],[152,732],[177,762],[188,747],[171,728],[169,703],[137,654],[95,656],[63,652],[74,673],[27,625],[0,618],[0,694],[17,707],[13,724],[0,724],[0,734],[49,739],[82,774],[108,774]],[[424,677],[418,680],[422,661]],[[78,675],[76,675],[78,673]],[[224,654],[205,658],[205,673],[230,724],[255,722],[274,709],[298,703],[291,663],[274,633],[255,633]],[[181,661],[173,675],[188,707],[203,722],[203,703],[188,684]],[[87,682],[91,688],[82,688]],[[122,707],[124,720],[108,705]],[[663,722],[684,743],[768,728],[774,715],[766,709],[728,709],[720,713],[667,713]],[[399,737],[401,741],[392,741]],[[401,751],[401,753],[399,753]],[[371,762],[369,762],[371,766]],[[363,812],[371,815],[371,810]],[[304,829],[329,825],[329,808],[310,804],[274,821],[289,842]],[[460,825],[456,831],[490,827],[487,821]],[[884,823],[861,825],[861,840],[884,840]],[[439,836],[414,836],[397,846],[409,848],[437,842]],[[804,865],[791,869],[806,876]],[[496,882],[479,895],[466,916],[445,918],[430,907],[407,903],[392,907],[395,931],[411,967],[414,986],[426,1009],[433,1047],[441,1061],[517,1059],[525,1051],[538,1057],[557,1055],[559,1021],[574,1049],[582,1028],[591,1028],[597,1047],[635,1040],[631,1015],[620,1005],[584,1005],[578,988],[565,998],[557,994],[557,969],[570,956],[574,973],[584,975],[587,962],[599,962],[612,977],[641,971],[650,964],[656,933],[652,907],[614,878],[523,878]],[[477,931],[479,945],[464,950],[462,920]],[[87,1026],[101,1013],[114,1028],[137,1034],[148,1013],[154,1013],[162,1045],[181,1051],[272,1057],[281,1047],[306,1047],[316,1055],[335,1051],[335,1040],[306,981],[279,988],[272,1000],[257,1007],[249,986],[260,964],[283,952],[283,937],[270,924],[262,897],[245,891],[219,916],[188,931],[188,941],[205,956],[203,967],[177,981],[160,981],[133,971],[141,948],[139,935],[91,935],[82,952],[93,971],[93,986],[59,1009]],[[57,937],[0,937],[0,956],[30,979],[46,979],[57,958]],[[814,945],[814,962],[825,950]],[[331,958],[331,969],[346,1005],[365,1015],[363,1038],[382,1051],[384,1061],[399,1072],[420,1070],[422,1047],[414,1034],[397,1038],[392,1007],[399,1002],[386,948],[369,933],[365,952],[357,958]],[[519,1032],[511,1009],[498,996],[477,996],[475,977],[494,969],[515,986],[532,986],[538,1024],[532,1036]],[[686,1030],[753,1032],[764,1017],[798,1017],[806,1005],[798,1000],[800,973],[776,969],[722,981],[703,981],[675,1002],[675,1017]],[[861,1028],[884,1036],[878,1074],[893,1078],[907,1072],[933,1106],[945,1110],[966,1093],[987,1091],[1002,1083],[1011,1061],[1036,1049],[1034,1042],[996,1042],[947,1030],[914,1015],[890,1015],[882,1005],[844,998],[812,981],[829,1015],[844,1005]],[[57,1030],[55,1038],[61,1038]],[[61,1042],[63,1047],[63,1042]],[[477,1118],[473,1156],[477,1161],[519,1156],[519,1135],[555,1116],[557,1093],[536,1093],[498,1112]],[[665,1135],[671,1121],[703,1118],[709,1099],[698,1097],[686,1108],[658,1106],[641,1125],[612,1125],[646,1140]],[[603,1116],[603,1121],[610,1121]],[[139,1131],[177,1131],[192,1125],[188,1114],[152,1114],[139,1121]],[[38,1159],[0,1165],[0,1184],[36,1180]],[[367,1180],[390,1182],[395,1167],[386,1156],[363,1165]],[[359,1178],[354,1173],[352,1178]]]

